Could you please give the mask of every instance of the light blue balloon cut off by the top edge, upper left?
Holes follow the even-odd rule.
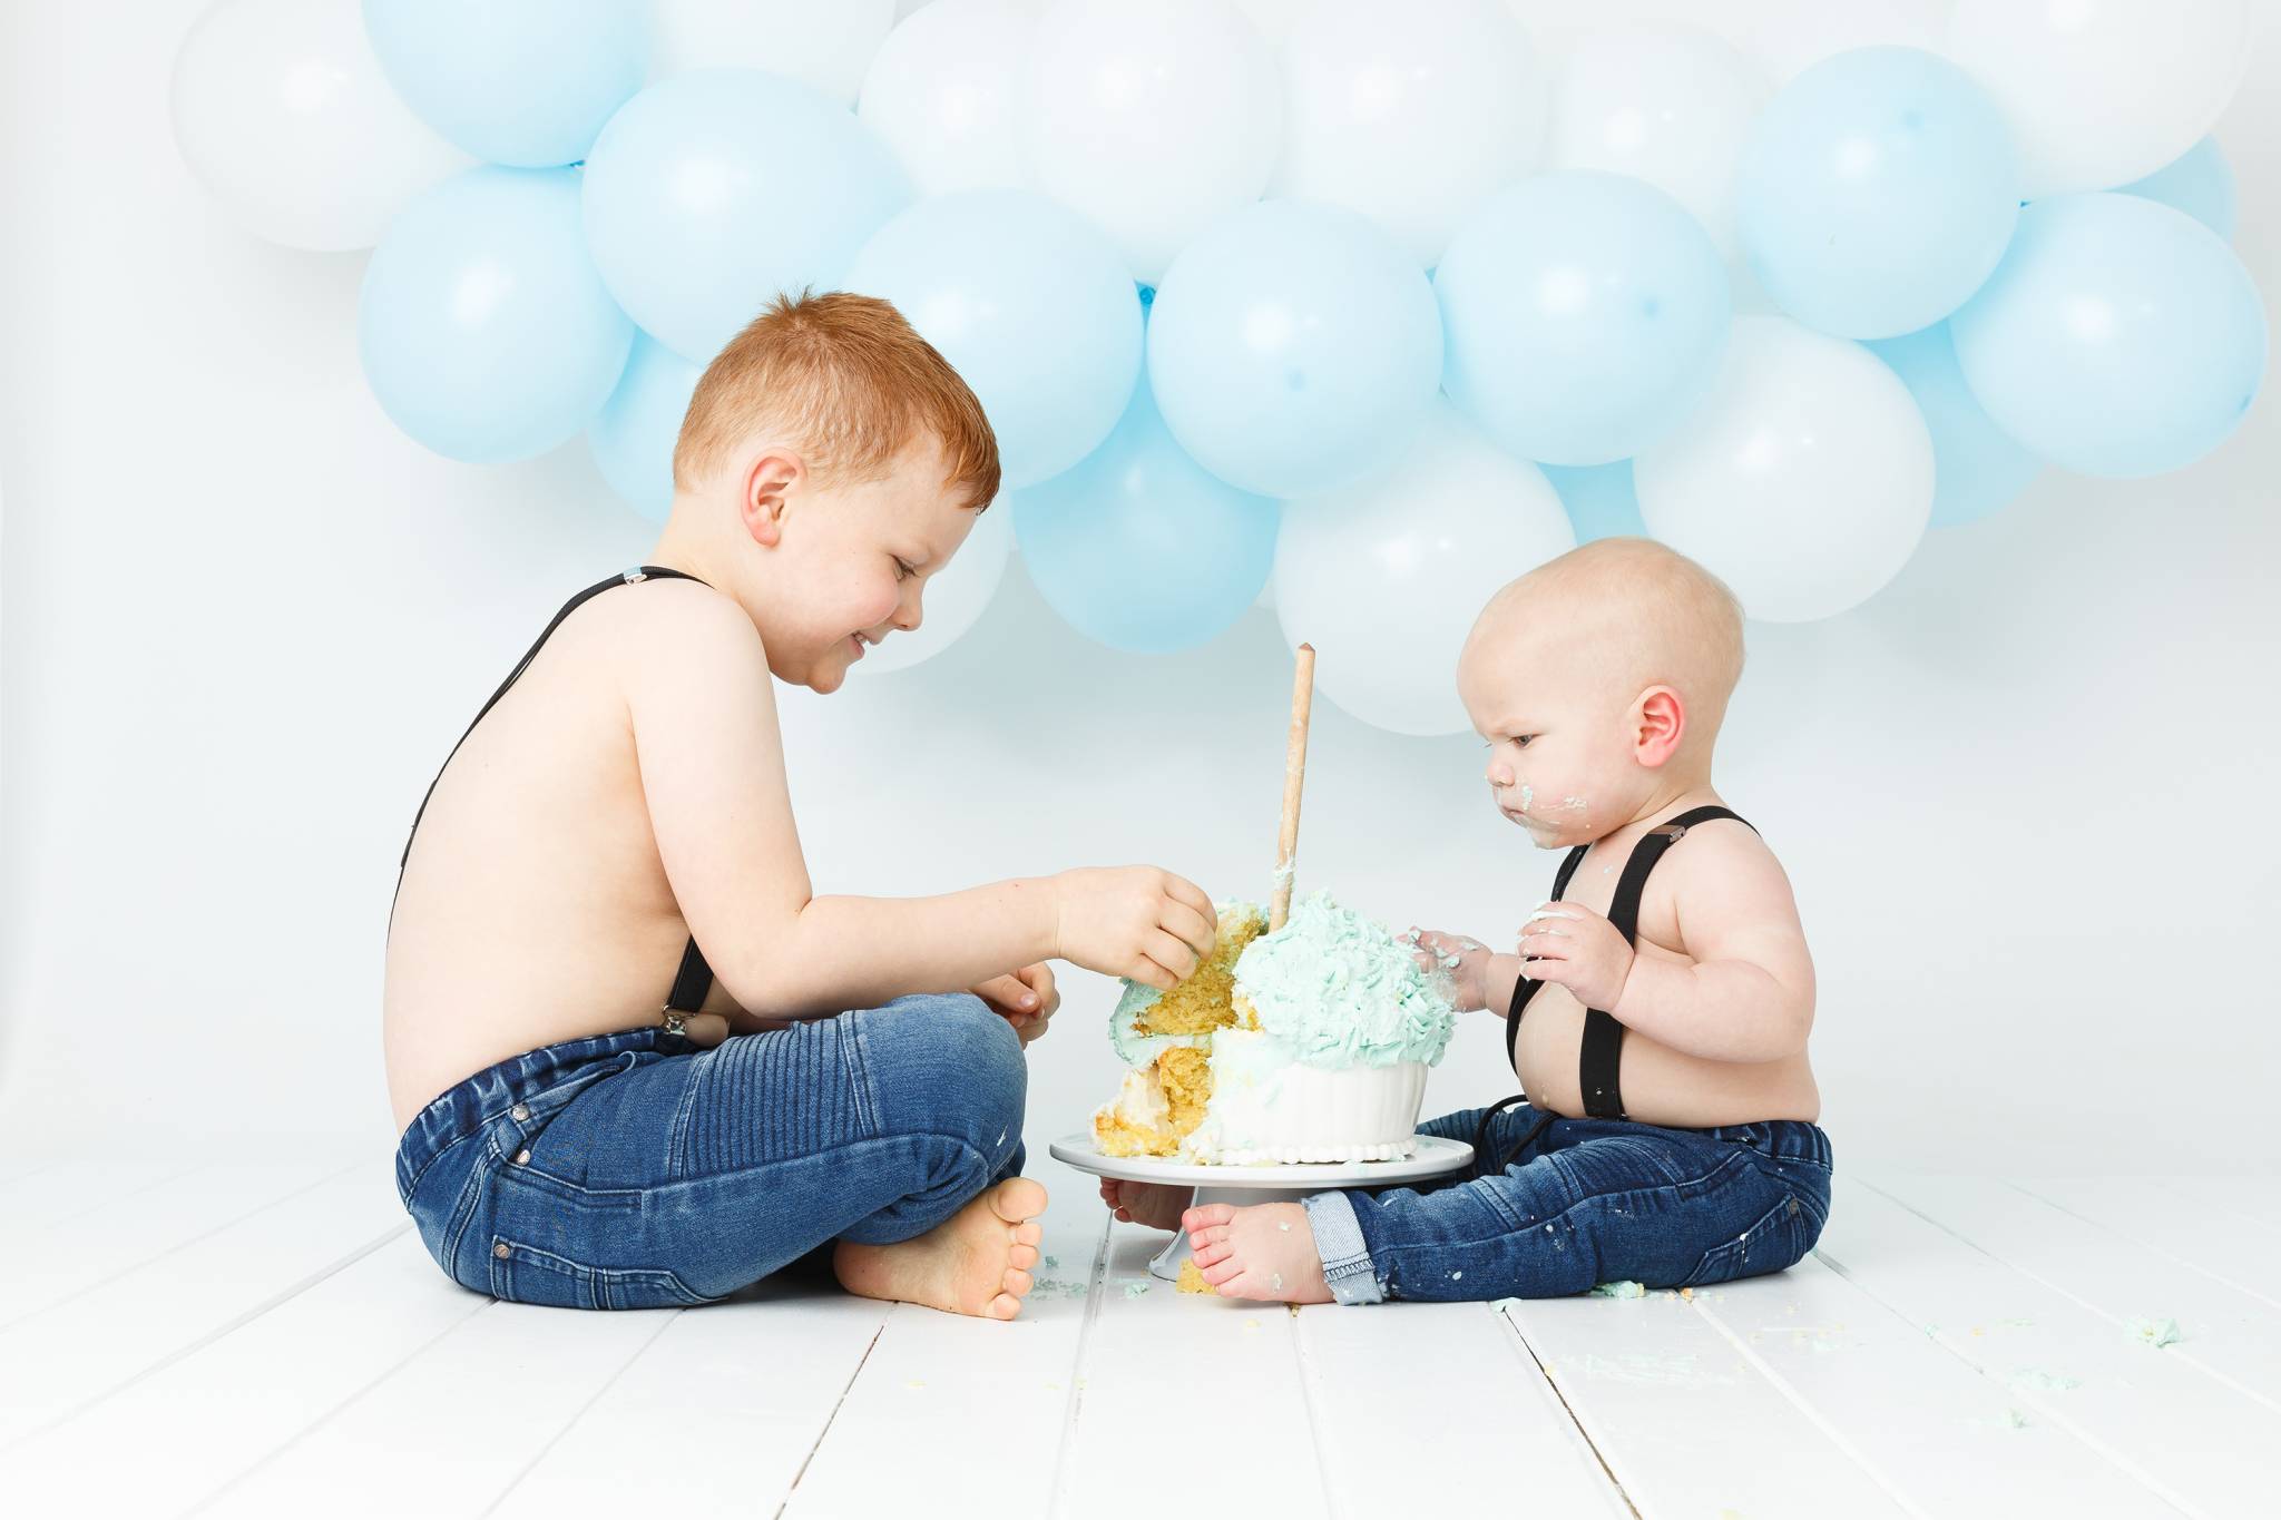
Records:
[[[422,121],[525,169],[586,157],[650,66],[643,0],[365,0],[365,34]]]

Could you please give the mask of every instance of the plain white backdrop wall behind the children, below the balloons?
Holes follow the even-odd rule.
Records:
[[[356,365],[363,258],[251,242],[176,157],[198,9],[0,9],[0,1169],[173,1137],[385,1151],[381,934],[413,807],[554,606],[650,542],[584,444],[468,467],[388,424]],[[2219,141],[2270,303],[2276,103],[2267,46]],[[1797,882],[1843,1160],[2274,1164],[2274,417],[2267,385],[2194,469],[2048,474],[1934,531],[1866,608],[1752,627],[1720,782]],[[785,693],[817,884],[1156,859],[1264,893],[1286,690],[1273,613],[1120,656],[1017,561],[937,661]],[[1302,884],[1508,934],[1553,859],[1478,768],[1476,741],[1318,704]],[[1118,1076],[1111,984],[1065,984],[1033,1144]],[[1508,1089],[1480,1016],[1428,1105]]]

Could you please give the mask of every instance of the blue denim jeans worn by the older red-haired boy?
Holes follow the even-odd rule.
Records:
[[[965,994],[737,1035],[595,1035],[474,1073],[397,1146],[436,1262],[518,1304],[705,1304],[910,1240],[1022,1171],[1029,1071]]]

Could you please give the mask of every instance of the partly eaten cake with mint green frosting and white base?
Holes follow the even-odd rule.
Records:
[[[1451,1000],[1380,923],[1312,893],[1268,932],[1218,905],[1218,943],[1172,991],[1125,982],[1109,1039],[1129,1071],[1093,1114],[1102,1155],[1182,1162],[1398,1160]]]

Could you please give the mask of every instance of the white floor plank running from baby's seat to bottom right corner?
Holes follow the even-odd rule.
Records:
[[[2219,1520],[2270,1502],[2281,1415],[1882,1192],[1841,1174],[1816,1253],[2000,1379],[2030,1422],[2073,1433],[2176,1509]]]

